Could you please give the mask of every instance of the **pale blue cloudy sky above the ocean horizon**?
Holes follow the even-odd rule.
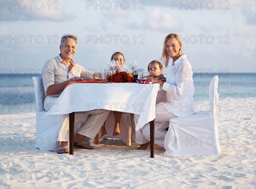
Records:
[[[113,52],[146,69],[160,60],[163,40],[177,33],[197,73],[256,72],[255,0],[1,0],[1,73],[40,73],[75,34],[73,60],[99,72]],[[169,68],[164,68],[168,71]]]

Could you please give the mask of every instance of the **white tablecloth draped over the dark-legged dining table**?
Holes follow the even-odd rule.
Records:
[[[136,130],[155,118],[159,84],[74,83],[58,97],[49,114],[106,109],[140,115]]]

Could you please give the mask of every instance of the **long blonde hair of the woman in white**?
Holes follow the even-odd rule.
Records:
[[[178,42],[179,44],[181,44],[181,48],[180,48],[180,50],[179,50],[179,52],[178,52],[178,55],[180,55],[180,56],[184,55],[184,54],[182,53],[182,43],[181,43],[181,41],[180,41],[180,37],[178,36],[178,34],[169,34],[169,35],[167,35],[166,38],[164,39],[164,42],[163,42],[163,52],[162,52],[162,56],[161,56],[161,58],[160,58],[160,59],[164,62],[164,64],[165,64],[166,67],[168,66],[168,64],[169,64],[169,59],[171,58],[171,57],[169,56],[169,54],[167,54],[167,52],[166,52],[166,43],[167,43],[167,41],[168,41],[169,39],[171,39],[171,38],[177,39],[177,42]]]

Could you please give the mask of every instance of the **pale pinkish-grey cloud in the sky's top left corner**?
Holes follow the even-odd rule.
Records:
[[[73,20],[73,14],[67,14],[63,1],[1,1],[1,21],[53,21]]]

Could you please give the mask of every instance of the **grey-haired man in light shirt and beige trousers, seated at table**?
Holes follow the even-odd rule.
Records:
[[[76,47],[76,36],[69,34],[62,36],[61,53],[47,60],[42,68],[45,92],[44,109],[46,111],[53,107],[58,96],[60,96],[61,92],[70,82],[74,82],[80,77],[98,75],[88,71],[71,59],[76,52]],[[71,96],[70,98],[74,97]],[[77,134],[74,136],[74,145],[85,149],[93,149],[93,138],[98,133],[109,113],[109,110],[103,109],[75,113],[75,133],[77,131]],[[59,115],[58,125],[58,141],[60,143],[57,153],[69,153],[67,148],[69,115]]]

